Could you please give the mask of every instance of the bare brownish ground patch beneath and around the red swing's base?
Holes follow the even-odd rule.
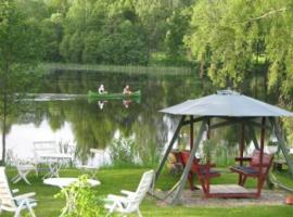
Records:
[[[227,184],[225,184],[227,186]],[[231,184],[232,186],[237,184]],[[155,191],[157,197],[164,199],[168,192],[166,191]],[[179,204],[187,207],[243,207],[243,206],[275,206],[275,205],[284,205],[284,200],[288,193],[282,190],[268,190],[264,189],[259,199],[205,199],[201,190],[190,191],[188,189],[182,191],[182,194],[179,200]],[[166,206],[171,204],[171,199],[167,197],[166,200],[157,200],[157,205]]]

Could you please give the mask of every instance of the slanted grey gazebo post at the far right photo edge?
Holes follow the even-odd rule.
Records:
[[[293,175],[293,161],[289,156],[288,149],[285,146],[285,141],[284,141],[282,132],[281,132],[281,127],[277,124],[276,118],[273,118],[273,117],[270,117],[269,122],[270,122],[272,128],[275,129],[275,135],[278,139],[278,144],[279,144],[279,146],[284,155],[285,162],[288,163],[289,170],[290,170],[291,175]]]

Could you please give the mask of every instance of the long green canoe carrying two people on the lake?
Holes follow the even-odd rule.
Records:
[[[93,100],[120,100],[120,99],[136,99],[140,98],[140,90],[132,92],[131,94],[124,93],[103,93],[99,94],[98,92],[93,92],[91,90],[88,91],[88,99],[90,101]]]

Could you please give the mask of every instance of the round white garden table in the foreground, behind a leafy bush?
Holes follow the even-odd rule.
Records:
[[[78,178],[49,178],[49,179],[44,179],[43,183],[49,184],[49,186],[55,186],[55,187],[59,187],[60,189],[64,189],[76,181],[78,181]],[[101,184],[100,181],[93,180],[93,179],[88,179],[87,181],[91,187]],[[65,199],[66,199],[66,205],[60,216],[64,216],[68,210],[72,210],[74,208],[75,195],[69,195],[67,191],[64,191],[64,193],[65,193]]]

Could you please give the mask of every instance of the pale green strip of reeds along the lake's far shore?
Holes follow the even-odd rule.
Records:
[[[102,73],[127,73],[127,74],[148,74],[148,75],[190,75],[191,67],[173,66],[135,66],[135,65],[95,65],[95,64],[75,64],[75,63],[42,63],[44,71],[87,71]]]

